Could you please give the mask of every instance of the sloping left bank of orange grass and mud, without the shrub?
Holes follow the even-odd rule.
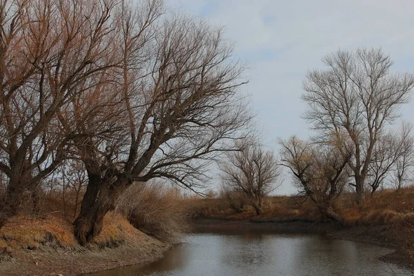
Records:
[[[72,226],[57,217],[13,219],[0,231],[0,275],[83,275],[153,262],[172,246],[115,214],[106,216],[101,235],[87,247],[72,233]]]

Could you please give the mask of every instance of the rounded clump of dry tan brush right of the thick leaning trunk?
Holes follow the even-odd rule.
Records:
[[[161,242],[177,243],[188,230],[188,215],[177,190],[139,183],[121,196],[119,210],[130,224]]]

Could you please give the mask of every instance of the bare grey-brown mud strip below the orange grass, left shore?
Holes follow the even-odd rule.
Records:
[[[36,250],[19,250],[0,262],[0,275],[8,276],[80,276],[135,264],[154,262],[172,245],[146,237],[106,248],[81,246],[55,248],[41,246]]]

